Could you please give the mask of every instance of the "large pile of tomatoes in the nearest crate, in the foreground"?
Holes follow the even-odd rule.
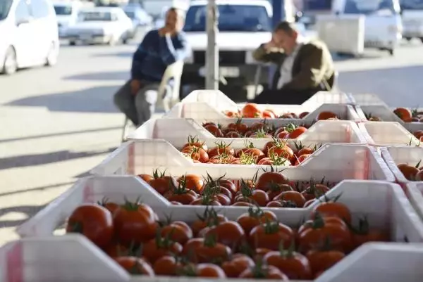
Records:
[[[336,201],[319,203],[298,229],[259,207],[237,219],[207,207],[194,222],[159,222],[148,205],[105,201],[77,207],[66,231],[85,235],[130,274],[282,281],[311,280],[363,243],[388,241],[365,219],[353,226]]]

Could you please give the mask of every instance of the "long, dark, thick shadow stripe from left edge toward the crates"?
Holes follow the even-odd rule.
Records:
[[[0,169],[9,169],[13,167],[31,167],[35,165],[46,165],[63,160],[73,160],[78,158],[87,158],[95,155],[111,153],[116,148],[108,148],[106,150],[93,150],[85,152],[70,152],[68,150],[59,150],[52,153],[42,153],[33,155],[19,155],[16,157],[8,157],[1,159]]]

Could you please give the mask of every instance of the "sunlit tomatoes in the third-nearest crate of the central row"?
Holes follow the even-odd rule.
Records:
[[[256,148],[252,142],[245,141],[245,148],[235,150],[231,144],[223,141],[215,143],[216,146],[208,146],[197,139],[189,136],[180,151],[193,162],[208,164],[231,164],[231,165],[299,165],[309,158],[321,145],[308,147],[302,143],[294,143],[295,148],[290,148],[285,140],[274,138],[266,143],[264,148]]]

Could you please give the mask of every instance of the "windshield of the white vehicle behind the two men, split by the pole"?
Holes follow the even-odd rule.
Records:
[[[219,30],[234,32],[269,32],[270,17],[264,6],[219,5]],[[207,6],[191,6],[185,20],[185,32],[206,30]]]

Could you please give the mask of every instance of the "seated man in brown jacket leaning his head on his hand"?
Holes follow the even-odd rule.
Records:
[[[254,103],[301,104],[333,84],[333,60],[326,44],[302,38],[291,23],[279,23],[271,41],[259,46],[253,56],[278,66],[271,88],[264,89]]]

